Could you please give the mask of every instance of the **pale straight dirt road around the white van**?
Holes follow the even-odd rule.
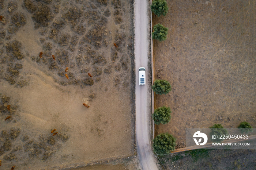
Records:
[[[149,1],[135,0],[135,65],[136,65],[136,139],[140,164],[144,170],[157,169],[155,157],[150,144],[150,84],[146,78],[146,85],[138,82],[139,67],[146,68],[148,75],[148,55],[150,25],[148,22]]]

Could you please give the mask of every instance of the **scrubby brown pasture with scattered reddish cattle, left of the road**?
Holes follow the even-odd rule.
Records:
[[[132,1],[0,0],[0,11],[1,168],[133,157]]]

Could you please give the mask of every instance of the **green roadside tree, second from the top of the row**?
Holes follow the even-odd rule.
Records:
[[[168,34],[168,28],[164,27],[162,24],[156,24],[153,27],[154,32],[152,32],[152,39],[157,39],[159,41],[165,41]]]

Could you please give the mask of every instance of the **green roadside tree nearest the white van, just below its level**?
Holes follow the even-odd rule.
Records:
[[[166,80],[155,80],[152,89],[157,94],[167,94],[172,90],[172,86]]]

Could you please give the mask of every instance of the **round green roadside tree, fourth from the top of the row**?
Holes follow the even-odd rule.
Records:
[[[155,124],[166,124],[171,120],[170,115],[171,109],[169,107],[159,107],[154,110],[154,113],[152,114],[152,117],[154,119]]]

